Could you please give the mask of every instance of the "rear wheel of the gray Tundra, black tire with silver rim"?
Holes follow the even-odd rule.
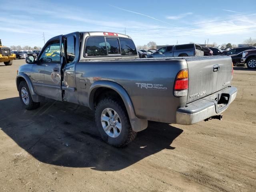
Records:
[[[110,116],[108,115],[109,112],[112,113],[112,117],[115,117],[117,114],[118,117],[114,119],[116,120],[116,125],[113,125],[111,118],[108,117]],[[102,117],[107,118],[108,121],[104,121],[104,118],[102,119]],[[113,98],[104,98],[100,100],[95,109],[95,121],[102,140],[112,146],[118,148],[124,147],[136,138],[137,132],[132,130],[126,108],[118,100],[114,100]],[[118,124],[119,128],[121,125],[121,130],[118,128]],[[110,128],[105,132],[103,126]],[[120,132],[118,132],[118,130]],[[116,134],[114,134],[114,132]]]

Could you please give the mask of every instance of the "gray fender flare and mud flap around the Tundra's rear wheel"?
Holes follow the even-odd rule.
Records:
[[[136,117],[134,107],[132,104],[132,100],[130,99],[130,96],[126,92],[126,90],[118,83],[107,81],[107,80],[100,80],[92,84],[90,87],[89,93],[88,93],[88,103],[90,109],[94,109],[94,94],[98,88],[110,88],[114,91],[116,91],[120,97],[122,98],[124,105],[126,107],[126,111],[128,113],[130,123],[132,126],[132,130],[138,132],[146,129],[148,127],[148,121],[144,119],[139,119]]]

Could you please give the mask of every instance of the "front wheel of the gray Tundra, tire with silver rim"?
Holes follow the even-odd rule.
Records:
[[[31,94],[30,94],[30,90],[29,90],[28,85],[27,85],[27,83],[25,81],[22,81],[19,84],[19,95],[20,95],[20,101],[22,103],[22,106],[26,110],[33,110],[33,109],[36,109],[36,108],[38,108],[40,106],[40,102],[34,102],[32,100],[32,97],[31,97]],[[26,100],[26,103],[23,100],[22,96],[25,96],[24,99]]]

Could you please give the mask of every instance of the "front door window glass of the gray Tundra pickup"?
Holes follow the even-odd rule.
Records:
[[[40,62],[60,62],[60,41],[54,40],[44,49]]]

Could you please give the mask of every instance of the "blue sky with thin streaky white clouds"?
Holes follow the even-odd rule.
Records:
[[[127,34],[136,45],[242,44],[256,38],[255,7],[255,0],[0,0],[0,39],[42,47],[44,38],[104,31]]]

